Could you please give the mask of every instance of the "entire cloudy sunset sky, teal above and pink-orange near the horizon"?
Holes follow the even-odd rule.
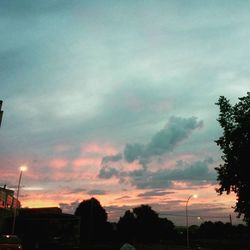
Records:
[[[249,91],[250,1],[0,1],[0,186],[23,207],[240,223],[219,196],[220,96]],[[197,217],[201,220],[198,221]]]

